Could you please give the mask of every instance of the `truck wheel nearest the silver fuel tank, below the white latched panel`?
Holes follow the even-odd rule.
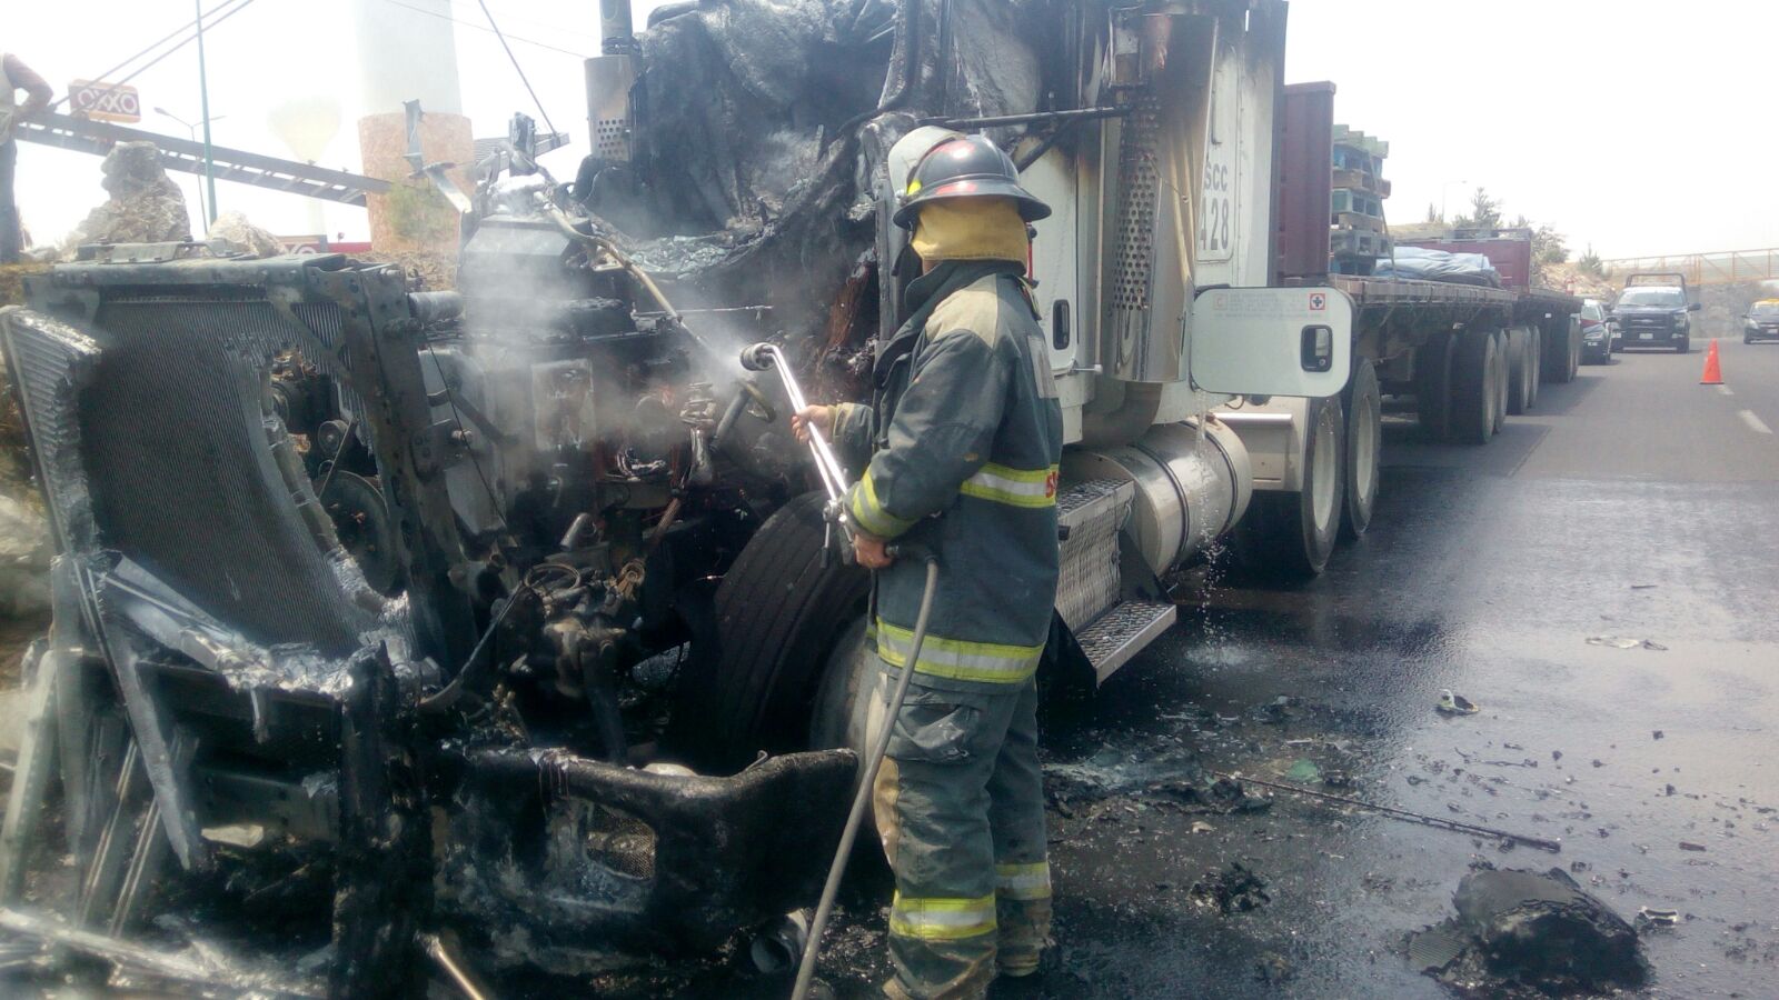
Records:
[[[1340,397],[1311,399],[1304,420],[1302,491],[1254,493],[1242,518],[1245,562],[1292,580],[1309,580],[1327,568],[1345,507],[1345,443]]]

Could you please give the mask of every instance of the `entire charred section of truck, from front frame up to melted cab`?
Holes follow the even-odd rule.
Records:
[[[516,119],[457,292],[203,244],[32,279],[0,347],[55,619],[0,831],[11,934],[116,941],[75,947],[114,980],[222,975],[125,941],[190,913],[278,929],[299,995],[382,996],[445,934],[471,970],[592,970],[813,902],[856,760],[806,749],[811,651],[865,585],[809,550],[813,477],[735,349],[868,390],[888,148],[1075,107],[1044,69],[1078,64],[1064,7],[664,7],[589,60],[573,183]],[[991,135],[1069,141],[1039,117]],[[790,585],[772,632],[758,594]]]

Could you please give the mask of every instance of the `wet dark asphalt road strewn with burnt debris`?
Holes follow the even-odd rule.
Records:
[[[1647,996],[1772,996],[1779,343],[1720,347],[1726,390],[1697,384],[1703,351],[1621,354],[1485,448],[1391,420],[1377,521],[1329,573],[1211,573],[1092,705],[1051,714],[1059,948],[1016,995],[1445,996],[1404,938],[1487,861],[1562,867],[1626,918],[1679,909],[1646,936]],[[1482,712],[1436,714],[1443,689]],[[1197,801],[1213,769],[1562,851],[1290,794],[1226,811]],[[1254,909],[1203,891],[1229,863],[1265,883]],[[854,897],[824,963],[841,996],[888,975],[877,902]],[[628,986],[779,993],[719,970]]]

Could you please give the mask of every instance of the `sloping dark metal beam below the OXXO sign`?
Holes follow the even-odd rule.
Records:
[[[85,117],[50,112],[21,121],[16,135],[25,142],[73,149],[76,153],[93,153],[94,157],[110,153],[110,148],[117,142],[153,142],[160,151],[162,165],[169,171],[183,171],[199,176],[205,173],[203,142],[192,142],[190,139],[178,139],[174,135],[160,135],[158,132],[144,132],[141,128],[125,128],[107,121],[91,121]],[[246,149],[229,149],[226,146],[210,146],[210,162],[212,173],[217,180],[231,180],[269,190],[338,201],[342,205],[363,206],[366,192],[382,194],[391,187],[390,181],[379,178],[368,178],[345,171],[329,171],[327,167],[317,167],[315,164],[281,160],[278,157],[265,157]]]

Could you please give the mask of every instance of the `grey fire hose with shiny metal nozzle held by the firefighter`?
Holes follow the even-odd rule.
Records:
[[[742,351],[742,367],[751,372],[776,370],[779,381],[785,383],[785,395],[790,397],[792,411],[802,413],[808,409],[809,404],[802,395],[802,388],[797,384],[797,377],[792,375],[785,352],[776,343],[754,343]],[[809,423],[808,431],[809,454],[815,459],[817,472],[822,475],[822,486],[827,489],[825,520],[829,525],[840,525],[845,541],[850,541],[852,528],[845,514],[845,470],[840,466],[840,459],[834,457],[834,450],[829,447],[822,429]],[[907,546],[891,546],[890,553],[897,559],[923,560],[927,564],[927,587],[920,594],[920,614],[914,616],[914,637],[909,642],[907,660],[902,664],[902,676],[897,678],[895,690],[890,694],[890,703],[886,705],[884,722],[879,728],[877,738],[872,740],[870,753],[865,756],[865,770],[859,774],[859,788],[852,795],[847,826],[840,833],[840,847],[834,849],[834,859],[827,867],[822,900],[817,904],[815,918],[809,922],[809,938],[802,947],[802,961],[797,963],[797,984],[792,988],[792,1000],[808,1000],[809,988],[815,984],[815,964],[822,954],[822,931],[827,929],[827,918],[834,913],[834,897],[840,893],[840,879],[847,872],[852,845],[859,838],[859,826],[865,824],[865,810],[872,801],[872,785],[877,783],[877,770],[890,753],[895,719],[902,714],[902,703],[907,699],[907,685],[914,680],[914,664],[920,662],[920,648],[927,641],[927,621],[932,617],[932,598],[939,589],[939,560],[934,553]]]

